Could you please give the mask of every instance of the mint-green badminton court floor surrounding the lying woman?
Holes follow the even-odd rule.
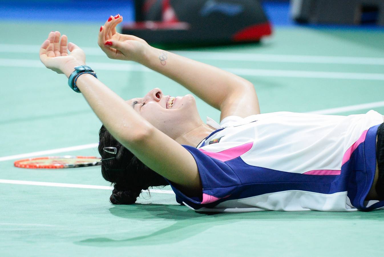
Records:
[[[189,93],[135,63],[109,60],[96,43],[99,27],[2,22],[1,256],[381,255],[384,211],[208,215],[178,205],[168,187],[151,197],[143,193],[137,204],[114,206],[100,167],[13,167],[15,159],[34,155],[98,155],[100,121],[65,76],[38,60],[51,30],[83,48],[99,79],[125,99],[155,87],[173,96]],[[276,28],[260,44],[179,53],[250,80],[262,113],[348,115],[384,113],[383,42],[382,31],[290,27]],[[203,120],[219,121],[217,110],[197,104]]]

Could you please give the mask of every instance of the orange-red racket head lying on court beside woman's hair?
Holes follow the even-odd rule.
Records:
[[[15,161],[15,167],[25,169],[65,169],[101,165],[101,158],[95,156],[46,156]]]

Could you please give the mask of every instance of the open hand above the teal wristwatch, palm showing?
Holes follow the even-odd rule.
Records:
[[[85,65],[85,53],[74,43],[67,45],[66,35],[60,32],[51,32],[40,48],[40,60],[48,68],[57,73],[64,73],[67,77],[74,66]],[[70,54],[68,54],[70,50]]]

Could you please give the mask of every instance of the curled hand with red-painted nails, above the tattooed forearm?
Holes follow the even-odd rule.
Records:
[[[148,43],[137,36],[116,32],[116,25],[122,22],[121,15],[111,16],[100,27],[98,44],[111,59],[129,60],[140,63],[144,60]]]

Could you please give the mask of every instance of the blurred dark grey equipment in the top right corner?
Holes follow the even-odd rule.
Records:
[[[291,0],[299,23],[384,26],[384,0]]]

